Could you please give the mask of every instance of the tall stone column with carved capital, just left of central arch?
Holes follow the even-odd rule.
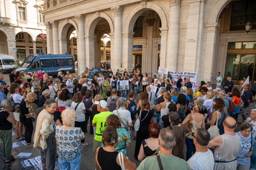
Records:
[[[113,72],[122,66],[122,12],[120,6],[111,7],[115,13],[115,49],[114,55],[111,58],[111,68]]]

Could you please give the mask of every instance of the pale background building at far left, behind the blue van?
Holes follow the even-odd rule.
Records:
[[[0,0],[0,54],[23,61],[29,54],[46,53],[43,0]]]

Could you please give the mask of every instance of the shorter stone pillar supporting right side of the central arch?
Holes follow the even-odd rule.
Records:
[[[160,67],[167,67],[166,61],[167,61],[167,31],[168,31],[168,28],[160,28],[160,31],[161,31]]]

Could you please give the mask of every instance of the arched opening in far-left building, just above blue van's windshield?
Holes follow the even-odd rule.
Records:
[[[34,54],[33,50],[33,40],[31,35],[26,32],[17,33],[15,36],[16,40],[16,57],[19,63],[23,63],[26,56]]]

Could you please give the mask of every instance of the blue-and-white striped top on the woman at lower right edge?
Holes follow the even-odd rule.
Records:
[[[251,165],[251,157],[245,157],[244,155],[248,154],[251,150],[251,135],[249,137],[243,137],[240,132],[236,133],[238,136],[240,136],[240,150],[238,151],[238,164],[241,165]],[[254,139],[254,135],[253,135]]]

